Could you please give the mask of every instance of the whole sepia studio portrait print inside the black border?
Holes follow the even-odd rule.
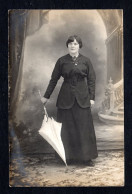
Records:
[[[124,186],[122,9],[8,10],[10,187]]]

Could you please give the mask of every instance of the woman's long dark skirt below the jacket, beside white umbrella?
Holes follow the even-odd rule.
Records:
[[[81,108],[77,101],[70,109],[58,109],[62,123],[61,138],[67,162],[86,162],[98,156],[90,108]]]

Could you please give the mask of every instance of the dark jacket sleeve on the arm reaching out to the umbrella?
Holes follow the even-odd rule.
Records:
[[[49,85],[48,85],[46,92],[44,94],[45,98],[48,98],[48,99],[50,98],[60,76],[61,76],[60,59],[58,59],[58,61],[55,64],[55,67],[53,69]]]

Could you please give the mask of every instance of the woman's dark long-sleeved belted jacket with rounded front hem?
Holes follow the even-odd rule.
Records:
[[[64,82],[56,106],[69,109],[73,106],[76,98],[82,108],[90,107],[90,100],[95,99],[95,72],[90,59],[81,54],[75,61],[70,54],[59,58],[44,94],[45,98],[50,98],[61,76],[64,78]]]

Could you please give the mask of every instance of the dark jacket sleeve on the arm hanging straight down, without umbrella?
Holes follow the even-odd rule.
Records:
[[[93,66],[92,66],[90,59],[87,60],[87,68],[88,68],[87,82],[88,82],[88,90],[89,90],[90,100],[95,100],[96,75],[95,75],[95,71],[93,69]]]

